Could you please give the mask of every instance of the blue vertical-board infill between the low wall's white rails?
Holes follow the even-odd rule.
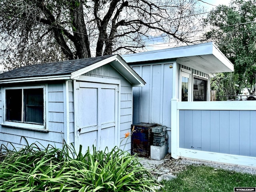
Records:
[[[256,111],[180,110],[180,148],[256,157]]]

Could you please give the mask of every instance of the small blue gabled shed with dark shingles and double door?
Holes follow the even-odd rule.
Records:
[[[120,146],[132,87],[145,82],[119,55],[24,66],[0,74],[0,144]],[[26,138],[23,139],[23,138]],[[123,146],[122,146],[123,145]]]

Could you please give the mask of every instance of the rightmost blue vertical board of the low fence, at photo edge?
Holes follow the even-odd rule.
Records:
[[[250,111],[250,156],[256,157],[256,111]]]

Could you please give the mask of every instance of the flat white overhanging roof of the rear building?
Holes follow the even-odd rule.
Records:
[[[234,71],[234,65],[213,42],[127,54],[122,58],[130,64],[176,59],[179,64],[207,74]]]

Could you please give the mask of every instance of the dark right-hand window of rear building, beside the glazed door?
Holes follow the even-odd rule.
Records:
[[[207,101],[207,80],[194,77],[193,79],[193,101]]]

